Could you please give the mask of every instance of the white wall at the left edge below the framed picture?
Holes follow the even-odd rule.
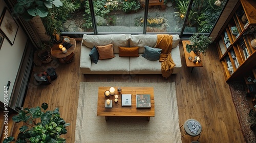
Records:
[[[5,7],[5,2],[3,0],[0,0],[1,15]],[[4,39],[3,45],[0,50],[0,101],[3,103],[5,103],[4,86],[7,85],[8,81],[11,81],[8,91],[8,98],[10,99],[13,85],[18,73],[20,61],[22,60],[22,56],[25,50],[27,39],[27,35],[20,26],[18,28],[18,32],[13,45],[11,45],[6,38]]]

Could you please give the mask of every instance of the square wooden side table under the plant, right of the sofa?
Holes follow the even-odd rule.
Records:
[[[186,65],[187,65],[187,67],[192,67],[192,69],[191,69],[191,73],[192,73],[194,67],[203,67],[203,60],[202,60],[203,56],[200,56],[201,62],[194,63],[193,60],[194,60],[195,56],[197,56],[197,55],[194,52],[188,53],[187,50],[186,50],[186,44],[190,44],[190,41],[189,40],[183,40],[182,45],[183,45]],[[192,57],[192,60],[189,60],[188,57]]]

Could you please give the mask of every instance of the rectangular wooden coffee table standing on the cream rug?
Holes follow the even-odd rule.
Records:
[[[118,102],[115,103],[114,96],[105,98],[105,90],[110,87],[99,87],[98,90],[98,107],[97,116],[105,116],[105,120],[109,120],[109,116],[127,116],[127,117],[147,117],[150,121],[151,116],[155,116],[155,101],[154,101],[154,88],[153,87],[121,87],[122,94],[132,94],[132,106],[122,106],[121,94],[118,95]],[[136,108],[136,94],[150,94],[151,95],[151,108],[150,109],[137,109]],[[112,108],[105,108],[105,100],[112,100]]]

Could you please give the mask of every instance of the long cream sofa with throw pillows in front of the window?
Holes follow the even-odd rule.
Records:
[[[173,35],[172,58],[176,64],[173,74],[181,70],[179,50],[179,35]],[[99,60],[97,64],[89,56],[93,46],[113,44],[115,58]],[[144,46],[155,47],[157,35],[87,35],[84,34],[81,42],[80,70],[82,74],[161,74],[161,62],[150,61],[142,57]],[[139,46],[139,57],[119,57],[118,46]]]

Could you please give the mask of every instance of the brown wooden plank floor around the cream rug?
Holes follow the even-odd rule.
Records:
[[[71,126],[67,127],[68,134],[63,135],[67,142],[75,140],[75,123],[78,103],[79,82],[175,82],[179,108],[179,124],[188,118],[195,118],[202,125],[200,142],[244,142],[244,138],[232,103],[228,84],[225,82],[222,65],[218,59],[215,47],[210,47],[203,57],[204,66],[194,68],[190,73],[186,67],[184,52],[180,42],[182,70],[167,80],[161,75],[82,75],[79,70],[80,44],[77,41],[75,60],[69,64],[52,63],[34,67],[39,72],[49,66],[55,67],[58,78],[50,85],[35,86],[31,78],[24,107],[36,107],[41,103],[49,104],[50,110],[56,107],[60,115]],[[15,126],[18,134],[20,124]],[[182,128],[181,134],[184,133]],[[191,142],[197,137],[185,135],[182,142]]]

